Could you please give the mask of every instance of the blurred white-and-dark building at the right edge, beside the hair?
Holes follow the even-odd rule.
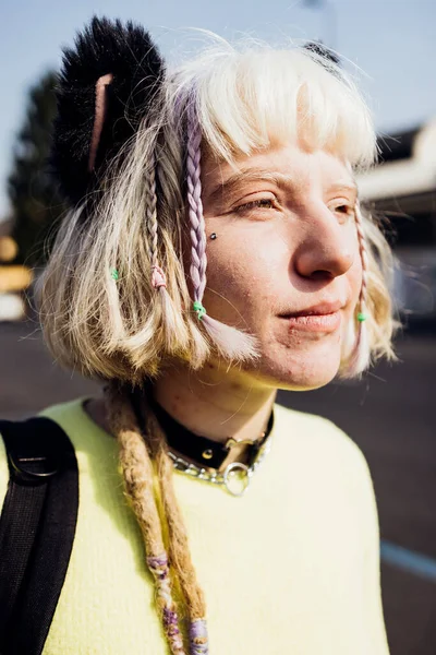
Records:
[[[436,321],[436,119],[378,139],[379,164],[359,177],[361,198],[389,219],[395,295],[413,324]]]

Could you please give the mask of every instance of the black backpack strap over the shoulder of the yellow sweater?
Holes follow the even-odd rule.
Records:
[[[0,433],[10,471],[0,516],[0,653],[39,655],[74,540],[77,461],[49,418],[2,420]]]

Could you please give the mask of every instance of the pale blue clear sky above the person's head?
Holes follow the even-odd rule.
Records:
[[[199,47],[201,27],[232,39],[323,39],[349,61],[379,132],[436,117],[435,0],[0,0],[0,219],[28,87],[94,14],[142,23],[171,60]]]

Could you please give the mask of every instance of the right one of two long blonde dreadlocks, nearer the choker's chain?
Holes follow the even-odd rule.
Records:
[[[160,497],[168,523],[171,563],[180,582],[190,617],[190,654],[207,655],[206,602],[192,562],[186,529],[173,487],[173,465],[167,454],[167,441],[152,407],[145,401],[147,432],[158,473]]]

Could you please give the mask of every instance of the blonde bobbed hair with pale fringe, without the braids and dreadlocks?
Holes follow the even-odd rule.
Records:
[[[84,203],[64,217],[38,285],[49,348],[58,361],[85,376],[141,380],[156,376],[169,357],[182,357],[195,368],[210,353],[210,340],[191,310],[183,269],[179,126],[180,106],[190,98],[196,103],[202,147],[230,163],[272,139],[294,139],[300,130],[319,147],[343,155],[354,170],[375,157],[371,116],[353,82],[335,62],[302,47],[274,49],[245,40],[238,47],[219,39],[170,72],[164,95],[156,114],[125,145],[122,166],[109,170],[101,199],[90,211]],[[171,311],[162,310],[150,285],[145,217],[155,162],[157,257]],[[391,356],[389,249],[370,216],[363,217],[363,228],[370,257],[368,349],[373,358]],[[112,269],[119,273],[117,283]],[[349,350],[347,344],[343,368]]]

